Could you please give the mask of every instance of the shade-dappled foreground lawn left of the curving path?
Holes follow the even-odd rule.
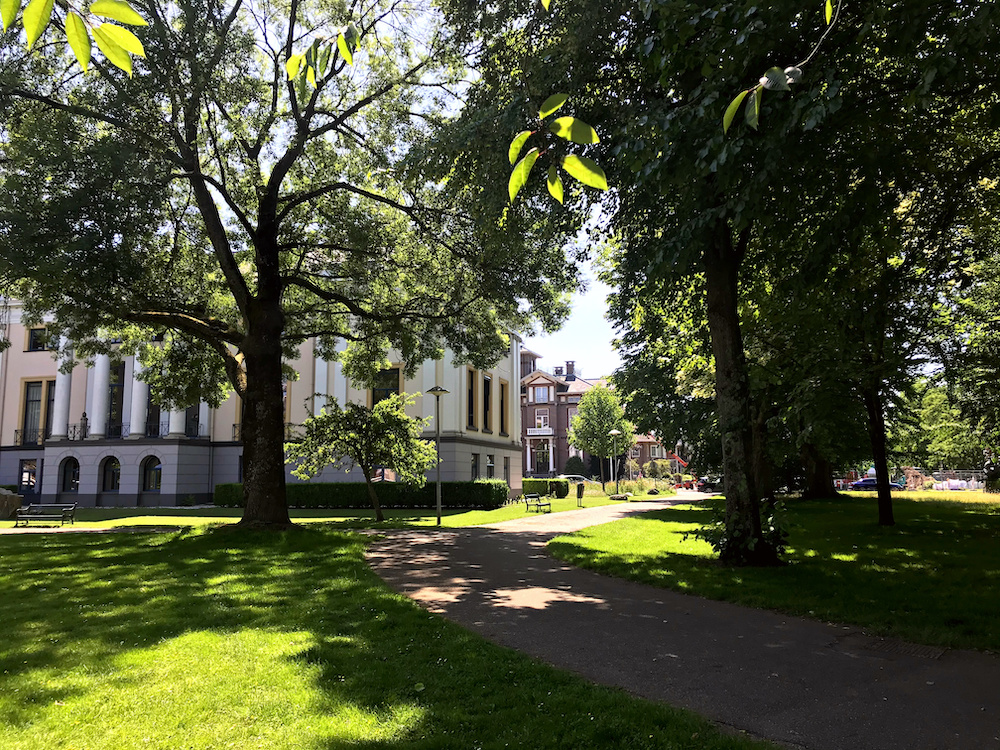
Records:
[[[770,747],[430,615],[364,544],[319,525],[0,537],[0,747]]]

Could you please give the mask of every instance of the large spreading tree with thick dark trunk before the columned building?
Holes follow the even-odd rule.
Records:
[[[445,345],[488,366],[565,314],[574,214],[484,186],[498,126],[453,122],[477,40],[430,3],[142,10],[133,79],[5,37],[0,282],[76,356],[136,353],[163,404],[235,391],[243,522],[286,524],[295,347],[362,380],[390,348],[408,371]]]

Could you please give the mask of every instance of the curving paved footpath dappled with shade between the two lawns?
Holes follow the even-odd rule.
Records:
[[[369,561],[397,591],[496,643],[789,747],[1000,750],[1000,658],[678,594],[545,554],[557,534],[668,505],[390,532]]]

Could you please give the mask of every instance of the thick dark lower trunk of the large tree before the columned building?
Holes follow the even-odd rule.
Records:
[[[243,410],[243,497],[241,526],[291,525],[285,495],[285,409],[282,397],[280,305],[255,305],[243,354],[247,373]]]

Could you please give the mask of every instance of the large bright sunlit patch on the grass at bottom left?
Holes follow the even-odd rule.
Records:
[[[200,630],[101,666],[35,670],[19,681],[26,721],[8,715],[0,746],[303,748],[400,740],[423,720],[409,701],[343,699],[347,676],[310,659],[317,645],[307,632]]]

